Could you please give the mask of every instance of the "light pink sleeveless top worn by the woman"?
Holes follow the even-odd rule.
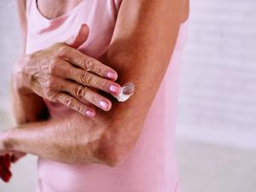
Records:
[[[27,0],[26,54],[71,37],[82,23],[90,27],[80,50],[95,58],[110,44],[121,0],[84,0],[53,20],[38,12],[36,0]],[[132,6],[132,5],[131,5]],[[116,167],[97,164],[66,165],[38,159],[38,192],[177,192],[174,133],[177,84],[187,22],[180,26],[177,44],[165,79],[154,98],[135,148]],[[52,118],[69,109],[45,101]]]

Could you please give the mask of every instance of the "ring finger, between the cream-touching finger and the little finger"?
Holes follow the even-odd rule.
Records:
[[[112,107],[112,103],[106,97],[86,86],[63,79],[60,79],[60,82],[61,84],[65,84],[65,86],[62,86],[60,89],[76,97],[80,102],[90,102],[96,107],[102,108],[104,111],[108,111]]]

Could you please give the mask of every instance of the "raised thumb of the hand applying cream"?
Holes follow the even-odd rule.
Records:
[[[82,24],[79,28],[79,32],[76,35],[73,35],[71,38],[68,38],[66,44],[78,49],[89,36],[89,27],[86,24]]]

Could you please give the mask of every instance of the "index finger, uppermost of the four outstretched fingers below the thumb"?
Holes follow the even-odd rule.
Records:
[[[95,73],[102,78],[112,80],[118,79],[118,74],[111,67],[104,65],[101,61],[97,61],[88,55],[84,55],[77,49],[69,48],[60,56],[61,59],[72,63],[73,66],[80,67],[91,73]]]

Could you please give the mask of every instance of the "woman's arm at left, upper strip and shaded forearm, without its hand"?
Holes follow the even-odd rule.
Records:
[[[20,32],[22,38],[22,56],[26,52],[26,0],[17,1],[19,19],[20,19]],[[13,96],[13,111],[15,116],[15,121],[18,125],[38,121],[42,119],[47,113],[46,106],[42,97],[36,95],[35,93],[30,93],[27,95],[20,94],[20,91],[15,89],[15,84],[19,81],[17,77],[12,78],[12,96]]]

